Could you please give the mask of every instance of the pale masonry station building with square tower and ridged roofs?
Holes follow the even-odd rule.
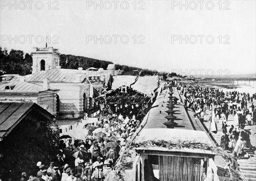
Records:
[[[52,115],[57,115],[59,119],[82,118],[86,113],[97,111],[99,106],[91,92],[93,90],[102,94],[105,81],[110,75],[115,74],[114,64],[108,65],[107,70],[100,68],[97,71],[83,70],[83,68],[61,69],[58,49],[52,47],[35,48],[32,56],[31,75],[2,79],[1,102],[35,102]],[[47,91],[43,89],[45,81],[49,89]],[[26,85],[17,86],[19,83],[29,85],[35,92],[28,92]],[[6,86],[12,85],[16,88],[6,90]]]

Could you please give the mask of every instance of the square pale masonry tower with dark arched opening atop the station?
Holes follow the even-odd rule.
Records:
[[[58,49],[53,47],[34,48],[31,54],[33,57],[32,74],[38,71],[61,68]]]

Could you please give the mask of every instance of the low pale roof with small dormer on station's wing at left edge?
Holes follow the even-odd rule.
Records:
[[[12,87],[11,90],[6,90],[6,86]],[[0,91],[13,91],[13,92],[43,92],[45,89],[43,89],[43,86],[38,86],[33,83],[28,82],[9,82],[2,84],[0,86]]]

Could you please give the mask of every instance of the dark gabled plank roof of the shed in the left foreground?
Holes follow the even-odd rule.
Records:
[[[48,120],[54,118],[51,113],[36,103],[0,103],[0,141],[31,111],[37,112],[38,116],[43,116]]]

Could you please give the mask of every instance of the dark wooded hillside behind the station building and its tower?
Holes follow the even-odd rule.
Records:
[[[113,64],[111,61],[97,60],[75,55],[60,54],[59,58],[61,69],[78,69],[79,67],[82,67],[84,70],[90,67],[107,69],[108,64]],[[0,46],[0,75],[31,74],[32,62],[32,55],[29,55],[28,53],[24,55],[23,51],[14,49],[11,49],[8,53],[6,48],[3,49]],[[123,75],[138,75],[141,71],[141,68],[116,64],[116,70],[118,69],[123,70]],[[157,70],[143,69],[140,76],[155,75],[157,73]]]

